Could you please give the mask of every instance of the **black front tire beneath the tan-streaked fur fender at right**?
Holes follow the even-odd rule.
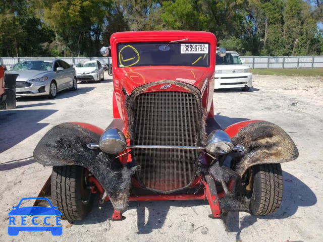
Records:
[[[281,164],[263,164],[252,168],[253,192],[250,201],[250,213],[253,215],[276,213],[283,199]]]

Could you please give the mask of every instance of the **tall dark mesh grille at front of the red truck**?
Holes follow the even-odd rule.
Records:
[[[201,113],[196,97],[187,92],[139,94],[134,103],[134,145],[199,145]],[[146,188],[173,191],[195,177],[198,150],[133,149],[138,176]]]

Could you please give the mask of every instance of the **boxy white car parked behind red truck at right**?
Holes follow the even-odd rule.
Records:
[[[224,57],[217,55],[214,89],[237,88],[248,91],[252,87],[250,67],[242,65],[237,52],[227,51]]]

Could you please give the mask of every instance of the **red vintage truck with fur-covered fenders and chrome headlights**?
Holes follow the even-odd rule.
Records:
[[[114,33],[110,43],[101,53],[112,53],[112,122],[105,130],[57,125],[33,152],[38,163],[53,166],[40,194],[51,189],[62,219],[83,219],[95,194],[100,204],[112,203],[115,220],[129,201],[207,200],[213,218],[275,213],[283,195],[280,163],[296,159],[298,150],[272,123],[217,123],[216,36],[131,31]]]

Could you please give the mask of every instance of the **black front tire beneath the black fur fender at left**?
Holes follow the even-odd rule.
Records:
[[[92,207],[93,196],[86,188],[85,168],[78,165],[54,166],[51,173],[52,204],[64,220],[81,220]]]

